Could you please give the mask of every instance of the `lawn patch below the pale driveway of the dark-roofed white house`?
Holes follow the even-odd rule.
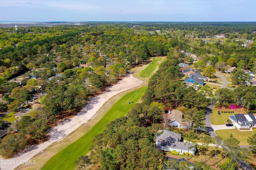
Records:
[[[217,130],[217,135],[222,137],[222,139],[226,139],[229,137],[230,133],[232,133],[233,137],[240,141],[239,146],[248,146],[247,143],[248,137],[251,137],[256,131],[238,131],[234,129],[225,129],[225,130]]]

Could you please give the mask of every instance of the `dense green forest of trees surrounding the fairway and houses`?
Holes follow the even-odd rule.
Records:
[[[19,133],[8,133],[0,144],[0,153],[8,158],[27,145],[45,141],[47,130],[56,119],[86,107],[88,98],[115,84],[133,66],[150,57],[167,56],[150,78],[142,102],[135,104],[126,117],[109,123],[92,141],[89,157],[81,159],[102,169],[162,169],[164,163],[177,165],[178,162],[166,162],[164,153],[152,145],[159,129],[170,129],[163,113],[178,108],[186,121],[204,127],[204,111],[213,96],[222,106],[235,103],[248,106],[253,112],[256,88],[246,86],[247,75],[244,79],[238,75],[242,74],[241,69],[256,72],[255,41],[254,22],[90,22],[20,27],[19,31],[0,28],[0,87],[2,100],[6,101],[0,103],[0,110],[19,111],[21,104],[38,90],[47,93],[40,101],[44,107],[22,117],[10,129]],[[198,91],[187,88],[180,81],[178,64],[192,63],[188,53],[198,56],[194,67],[205,74],[211,75],[210,69],[224,72],[236,66],[232,74],[235,89],[223,88],[213,94],[207,85]],[[25,78],[20,84],[8,81],[21,74]],[[194,131],[179,132],[188,141],[197,138]],[[237,169],[234,155],[242,151],[232,148],[234,137],[230,140],[224,141],[229,155],[227,164],[228,168],[232,165]],[[79,161],[76,163],[81,166]],[[182,164],[173,168],[187,167]],[[204,162],[197,162],[194,167],[210,169]]]

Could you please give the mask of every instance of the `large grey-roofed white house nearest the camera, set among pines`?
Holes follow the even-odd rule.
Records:
[[[162,132],[162,134],[156,137],[155,142],[156,145],[160,147],[160,149],[166,151],[176,150],[180,154],[182,154],[183,152],[188,152],[193,155],[195,154],[195,145],[190,143],[190,146],[188,147],[188,143],[184,143],[181,141],[182,139],[179,133],[168,130],[159,130],[158,132]]]

